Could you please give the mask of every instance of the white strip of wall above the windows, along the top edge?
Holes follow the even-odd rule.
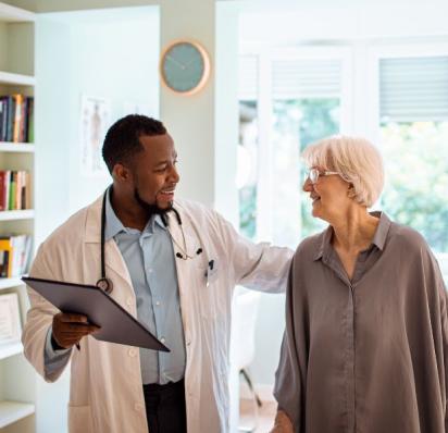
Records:
[[[245,1],[244,42],[325,42],[335,39],[447,34],[444,0]]]

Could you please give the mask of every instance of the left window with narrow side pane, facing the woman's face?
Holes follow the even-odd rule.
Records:
[[[239,188],[239,210],[247,236],[295,248],[326,226],[301,194],[299,156],[340,131],[343,65],[340,55],[321,49],[240,58],[238,160],[249,180]]]

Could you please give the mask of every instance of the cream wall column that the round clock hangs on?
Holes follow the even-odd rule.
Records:
[[[161,44],[191,39],[210,57],[211,74],[198,94],[182,96],[162,86],[160,113],[174,138],[179,157],[181,196],[214,203],[215,1],[161,1]]]

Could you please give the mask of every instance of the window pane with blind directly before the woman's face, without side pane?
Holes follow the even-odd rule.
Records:
[[[341,62],[336,59],[273,62],[273,215],[278,222],[273,234],[282,245],[295,246],[326,226],[311,215],[308,194],[300,194],[304,168],[299,156],[311,143],[339,132],[340,82]]]

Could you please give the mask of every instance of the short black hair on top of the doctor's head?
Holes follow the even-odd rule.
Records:
[[[140,114],[129,114],[116,121],[108,131],[102,145],[102,158],[112,174],[119,162],[127,162],[130,157],[144,150],[141,136],[166,134],[163,123]]]

